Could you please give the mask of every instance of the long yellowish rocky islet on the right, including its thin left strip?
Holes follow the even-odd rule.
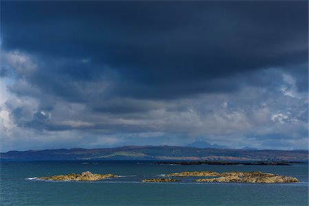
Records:
[[[218,176],[216,178],[197,179],[196,182],[236,182],[236,183],[297,183],[299,180],[293,176],[282,176],[264,172],[179,172],[167,176]]]

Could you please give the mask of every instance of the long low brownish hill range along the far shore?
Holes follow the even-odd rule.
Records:
[[[123,146],[101,149],[27,150],[0,153],[1,161],[41,160],[227,160],[308,161],[308,150],[236,150],[178,146]]]

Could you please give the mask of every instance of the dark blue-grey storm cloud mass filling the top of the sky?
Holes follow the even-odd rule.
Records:
[[[93,80],[104,75],[104,67],[119,73],[113,92],[122,96],[233,91],[240,85],[212,80],[308,58],[306,1],[2,5],[3,48],[45,60],[47,67],[32,82],[59,95],[76,97],[68,80]],[[58,66],[51,66],[54,61]]]

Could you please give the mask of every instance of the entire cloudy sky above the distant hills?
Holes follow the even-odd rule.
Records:
[[[1,152],[308,149],[308,1],[1,1]]]

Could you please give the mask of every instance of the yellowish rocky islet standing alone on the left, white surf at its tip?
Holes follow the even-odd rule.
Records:
[[[67,174],[54,176],[41,176],[38,179],[50,181],[98,181],[102,179],[117,178],[115,174],[93,174],[92,172],[82,172],[81,174]]]

